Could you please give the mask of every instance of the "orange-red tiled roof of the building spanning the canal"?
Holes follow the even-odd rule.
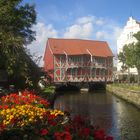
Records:
[[[113,56],[105,41],[49,38],[48,44],[53,54],[83,55],[90,53],[100,57]]]

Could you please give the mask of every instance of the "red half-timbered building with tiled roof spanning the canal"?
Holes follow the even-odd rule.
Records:
[[[112,81],[113,54],[107,42],[49,38],[44,70],[55,83]]]

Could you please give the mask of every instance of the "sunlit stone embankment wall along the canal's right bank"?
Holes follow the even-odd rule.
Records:
[[[107,91],[118,96],[121,99],[137,106],[140,109],[140,91],[128,90],[125,88],[107,85]]]

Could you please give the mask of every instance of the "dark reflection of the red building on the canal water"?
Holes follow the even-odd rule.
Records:
[[[71,115],[82,115],[107,132],[112,127],[112,100],[105,93],[75,93],[60,96],[54,108],[67,110]]]

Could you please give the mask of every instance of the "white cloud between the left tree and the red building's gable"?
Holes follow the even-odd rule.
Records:
[[[35,54],[36,56],[42,56],[39,65],[43,65],[43,56],[45,52],[45,46],[48,38],[57,37],[58,32],[54,29],[54,27],[49,24],[45,25],[44,23],[38,22],[33,30],[36,31],[36,40],[33,41],[30,45],[28,45],[28,49],[30,49],[31,54]]]

